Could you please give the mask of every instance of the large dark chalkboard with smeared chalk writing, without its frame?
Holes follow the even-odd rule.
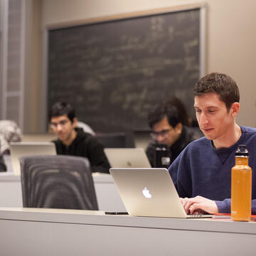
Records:
[[[96,132],[146,129],[171,96],[193,115],[200,75],[200,9],[48,31],[48,108],[70,102]]]

